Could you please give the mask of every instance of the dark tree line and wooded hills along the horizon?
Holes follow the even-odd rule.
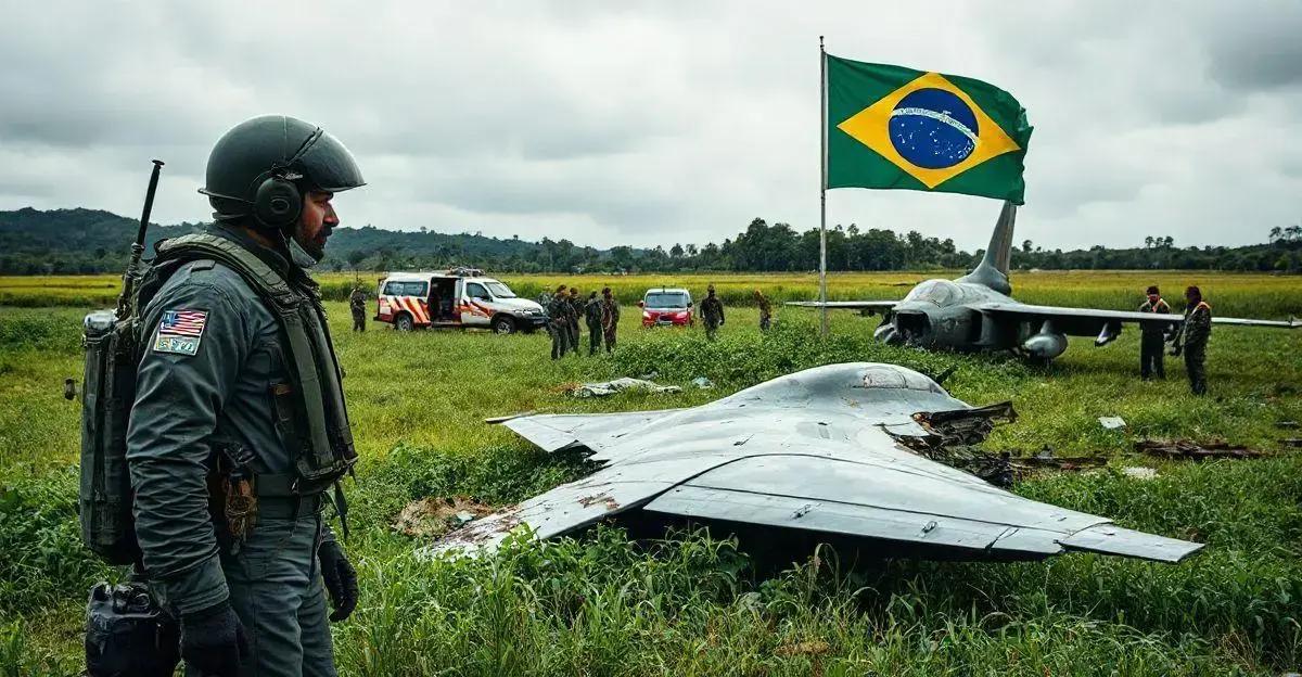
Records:
[[[95,210],[33,208],[0,211],[0,275],[61,275],[121,272],[126,266],[135,221]],[[151,225],[150,242],[195,232],[203,224]],[[950,238],[926,237],[917,230],[859,229],[837,225],[827,233],[831,271],[893,271],[971,268],[982,250],[961,251]],[[1262,245],[1240,247],[1180,247],[1170,236],[1148,236],[1142,247],[1047,250],[1030,240],[1013,249],[1018,269],[1226,269],[1302,272],[1302,225],[1276,227]],[[745,230],[721,243],[673,243],[608,250],[544,237],[538,242],[487,237],[482,233],[385,230],[371,225],[340,228],[331,237],[322,268],[332,271],[391,271],[474,266],[497,272],[674,272],[815,271],[819,232],[754,219]]]

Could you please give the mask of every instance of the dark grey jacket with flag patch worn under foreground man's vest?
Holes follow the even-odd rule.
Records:
[[[301,268],[247,237],[215,234],[258,253],[296,289],[314,288]],[[168,318],[172,328],[160,328]],[[176,348],[178,331],[198,331],[193,354],[184,342]],[[159,288],[142,309],[141,336],[126,434],[135,532],[151,578],[178,612],[189,613],[228,596],[206,484],[215,441],[253,450],[255,473],[293,471],[271,402],[272,385],[288,383],[289,374],[271,311],[237,272],[212,260],[181,266]]]

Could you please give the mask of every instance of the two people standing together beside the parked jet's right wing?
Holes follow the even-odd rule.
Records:
[[[1169,314],[1170,305],[1161,298],[1157,285],[1146,290],[1147,299],[1139,306],[1139,312]],[[1207,338],[1212,335],[1212,307],[1203,301],[1203,293],[1197,286],[1185,289],[1185,322],[1170,332],[1169,324],[1146,322],[1142,324],[1143,337],[1139,341],[1139,375],[1147,380],[1165,379],[1164,346],[1168,338],[1173,357],[1185,357],[1185,371],[1189,374],[1189,387],[1194,394],[1207,393]]]

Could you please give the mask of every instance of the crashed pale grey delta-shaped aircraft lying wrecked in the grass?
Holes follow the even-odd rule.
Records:
[[[850,538],[884,556],[1038,560],[1091,551],[1176,562],[1198,543],[1022,499],[923,456],[973,444],[1005,404],[971,408],[917,371],[815,367],[691,409],[493,419],[548,452],[600,467],[445,535],[435,552],[493,549],[652,516]]]

